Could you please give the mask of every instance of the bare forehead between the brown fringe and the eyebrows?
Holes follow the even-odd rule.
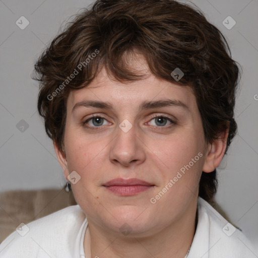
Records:
[[[128,55],[128,67],[144,79],[131,82],[118,82],[107,74],[105,67],[87,86],[72,90],[68,98],[68,110],[85,100],[108,101],[113,106],[139,106],[143,101],[173,99],[184,102],[189,108],[196,105],[196,98],[189,86],[181,86],[155,77],[150,73],[148,64],[141,54]]]

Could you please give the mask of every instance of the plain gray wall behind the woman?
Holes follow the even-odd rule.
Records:
[[[38,85],[31,73],[34,61],[62,22],[92,2],[0,1],[0,191],[60,188],[66,182],[37,113]],[[243,69],[235,108],[238,135],[219,166],[216,200],[232,223],[258,241],[258,2],[193,2],[222,31],[233,59]],[[16,25],[21,16],[29,21],[24,30]],[[230,30],[222,24],[228,16],[236,21]],[[29,127],[20,132],[17,124],[22,119]]]

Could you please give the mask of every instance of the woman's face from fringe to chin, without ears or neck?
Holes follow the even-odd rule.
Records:
[[[117,233],[127,223],[148,235],[196,202],[207,146],[191,89],[149,74],[144,59],[132,64],[148,77],[124,84],[103,68],[70,93],[61,165],[66,177],[80,178],[72,189],[88,221]],[[117,178],[132,180],[108,183]]]

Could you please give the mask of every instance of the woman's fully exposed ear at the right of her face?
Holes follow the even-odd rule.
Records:
[[[229,125],[229,124],[227,124]],[[227,147],[228,129],[223,129],[219,138],[214,140],[212,144],[208,144],[203,171],[206,173],[214,171],[223,159]]]

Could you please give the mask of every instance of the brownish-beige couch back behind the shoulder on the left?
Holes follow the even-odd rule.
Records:
[[[76,205],[73,193],[63,189],[16,190],[0,193],[0,243],[20,223]]]

